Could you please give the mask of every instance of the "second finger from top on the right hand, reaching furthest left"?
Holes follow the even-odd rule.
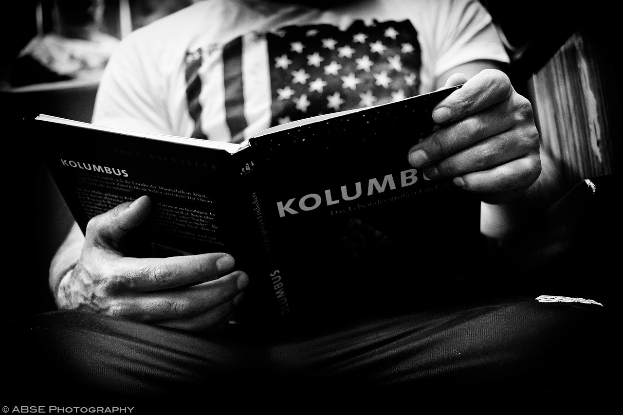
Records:
[[[435,163],[468,146],[511,128],[527,129],[533,125],[532,108],[520,95],[492,105],[476,115],[435,130],[409,150],[409,163],[414,168]],[[508,117],[508,114],[513,114]],[[533,132],[528,135],[534,138]]]

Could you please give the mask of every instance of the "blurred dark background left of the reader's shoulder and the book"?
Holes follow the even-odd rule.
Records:
[[[7,276],[5,319],[54,309],[47,272],[73,222],[67,205],[22,133],[40,113],[90,122],[99,78],[128,33],[194,0],[20,0],[2,3],[0,122],[2,216]]]

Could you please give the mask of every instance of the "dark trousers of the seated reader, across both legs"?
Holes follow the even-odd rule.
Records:
[[[200,335],[85,312],[45,313],[6,323],[7,396],[70,399],[74,406],[80,398],[145,398],[159,407],[206,393],[239,403],[292,396],[309,404],[325,396],[361,403],[381,394],[419,402],[603,402],[604,375],[618,359],[609,351],[608,308],[536,297],[274,338],[239,325]]]

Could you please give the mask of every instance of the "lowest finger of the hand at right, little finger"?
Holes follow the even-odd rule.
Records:
[[[492,169],[462,174],[454,184],[477,193],[511,193],[528,188],[541,174],[538,154],[518,158]]]

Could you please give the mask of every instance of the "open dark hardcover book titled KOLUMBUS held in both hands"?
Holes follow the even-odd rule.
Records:
[[[228,252],[250,275],[240,322],[321,322],[450,295],[480,237],[479,203],[407,151],[457,87],[276,126],[240,145],[29,120],[83,231],[144,194],[136,252]]]

